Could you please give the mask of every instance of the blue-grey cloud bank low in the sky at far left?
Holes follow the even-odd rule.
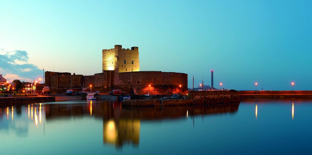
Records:
[[[28,63],[29,57],[26,51],[15,50],[5,51],[0,48],[0,69],[4,77],[18,77],[21,80],[37,78],[42,74],[42,70],[36,65]],[[16,75],[16,76],[15,76]],[[7,77],[7,78],[9,78]]]

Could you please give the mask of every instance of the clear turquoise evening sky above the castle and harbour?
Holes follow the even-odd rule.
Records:
[[[140,71],[236,90],[312,90],[312,1],[4,1],[0,74],[102,72],[102,49],[139,47]]]

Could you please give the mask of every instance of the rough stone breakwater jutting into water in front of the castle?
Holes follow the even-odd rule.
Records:
[[[238,92],[231,91],[190,91],[185,99],[136,99],[123,100],[122,106],[181,106],[240,102]]]

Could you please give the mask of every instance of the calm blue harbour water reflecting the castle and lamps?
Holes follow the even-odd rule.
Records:
[[[124,108],[112,101],[0,106],[1,154],[309,154],[311,100]]]

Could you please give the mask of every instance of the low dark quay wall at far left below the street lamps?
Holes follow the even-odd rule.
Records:
[[[41,102],[55,102],[54,96],[43,97],[6,97],[0,98],[0,104],[5,103],[41,103]]]

